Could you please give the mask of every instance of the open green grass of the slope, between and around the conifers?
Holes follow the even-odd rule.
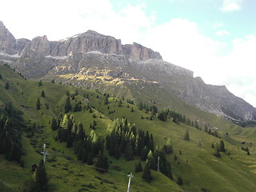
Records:
[[[37,140],[35,147],[30,145],[30,138],[26,138],[23,135],[22,143],[25,150],[26,165],[24,169],[20,168],[14,162],[6,162],[4,158],[0,158],[0,179],[3,180],[0,182],[1,185],[5,185],[6,189],[17,190],[18,186],[26,178],[30,178],[30,165],[38,162],[41,158],[41,155],[36,153],[35,150],[42,150],[41,146],[46,142],[47,146],[50,147],[48,149],[50,153],[48,159],[54,160],[52,162],[46,162],[46,170],[50,176],[50,191],[90,189],[90,183],[91,186],[96,188],[90,189],[91,191],[126,190],[128,181],[126,174],[134,172],[134,162],[138,159],[126,162],[110,157],[112,163],[110,164],[109,173],[98,174],[92,167],[76,162],[73,150],[71,148],[67,149],[65,143],[54,141],[54,136],[57,132],[50,130],[49,122],[54,115],[62,111],[66,99],[66,90],[70,90],[70,93],[72,93],[75,91],[74,87],[61,86],[49,82],[43,82],[43,86],[38,87],[38,82],[23,81],[18,75],[12,73],[12,71],[3,68],[3,66],[0,66],[0,68],[4,81],[9,77],[10,79],[8,80],[14,82],[13,85],[10,85],[10,90],[5,90],[3,88],[5,82],[0,81],[0,91],[2,93],[0,95],[0,101],[18,101],[16,102],[16,106],[24,112],[27,119],[31,119],[31,122],[37,122],[44,126],[43,128],[39,128],[37,134],[34,136],[34,139]],[[19,82],[18,85],[17,82]],[[40,96],[42,90],[45,90],[46,98]],[[22,91],[24,94],[21,94]],[[110,110],[115,110],[116,112],[109,114],[107,106],[102,104],[104,101],[102,95],[96,98],[97,93],[80,89],[79,94],[83,95],[85,91],[90,94],[90,103],[103,113],[102,118],[98,118],[100,113],[94,111],[97,115],[96,121],[98,122],[98,126],[96,127],[97,134],[106,134],[106,126],[111,120],[126,116],[130,122],[136,122],[138,128],[149,130],[154,135],[155,145],[163,145],[166,142],[164,137],[170,137],[173,142],[174,154],[177,154],[178,161],[174,162],[174,154],[168,155],[167,158],[171,161],[174,178],[182,176],[184,182],[182,189],[162,174],[152,171],[154,181],[150,184],[142,181],[141,174],[134,174],[135,177],[132,179],[131,190],[200,191],[203,187],[210,191],[254,191],[256,187],[256,184],[254,184],[256,178],[255,154],[253,153],[248,156],[245,151],[238,150],[238,146],[240,146],[239,141],[255,141],[254,136],[256,133],[254,129],[242,129],[216,115],[194,110],[194,108],[181,102],[180,108],[183,110],[186,109],[187,113],[192,115],[195,112],[195,117],[201,117],[205,121],[221,127],[222,134],[229,131],[230,137],[226,137],[225,139],[230,143],[225,143],[226,149],[230,151],[230,155],[222,154],[222,158],[215,158],[213,155],[214,149],[210,145],[212,142],[219,142],[218,138],[214,138],[190,126],[183,124],[178,126],[170,120],[161,122],[157,118],[154,118],[153,121],[142,119],[142,115],[144,117],[150,117],[150,114],[145,114],[143,111],[138,110],[136,106],[133,106],[134,113],[131,113],[130,108],[127,108],[127,103],[124,102],[121,107],[118,107],[118,102],[115,102],[113,98],[110,98],[109,106]],[[42,103],[41,110],[35,110],[35,103],[38,97]],[[82,97],[77,96],[76,99],[79,100]],[[44,102],[50,104],[50,110],[45,109]],[[84,101],[82,102],[83,106],[86,105]],[[19,106],[20,104],[31,108],[23,108]],[[74,101],[72,101],[72,104],[74,106]],[[83,122],[86,128],[86,134],[89,134],[90,123],[94,120],[92,114],[88,113],[88,111],[81,111],[75,113],[74,117],[76,122]],[[182,139],[186,128],[190,131],[190,142]],[[201,148],[198,147],[199,139],[202,139]],[[254,149],[253,144],[250,147],[250,151],[253,152],[255,151]],[[179,150],[182,150],[182,155],[178,154]],[[67,158],[71,158],[71,161],[67,160]],[[121,170],[116,170],[114,166],[119,166]],[[101,184],[101,181],[94,177],[95,175],[114,183],[103,182]]]

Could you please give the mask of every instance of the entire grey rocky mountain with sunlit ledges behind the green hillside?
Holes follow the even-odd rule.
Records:
[[[15,39],[0,22],[0,50],[0,60],[27,78],[136,96],[175,110],[182,110],[174,103],[181,99],[234,122],[256,120],[256,109],[226,86],[206,85],[192,71],[163,61],[154,50],[138,43],[122,45],[121,40],[92,30],[60,41],[50,42],[46,36],[30,41]]]

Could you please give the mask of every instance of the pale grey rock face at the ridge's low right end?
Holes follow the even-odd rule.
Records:
[[[182,99],[214,114],[233,120],[256,120],[256,109],[242,98],[231,94],[226,86],[206,85],[202,78],[194,78],[185,90]]]

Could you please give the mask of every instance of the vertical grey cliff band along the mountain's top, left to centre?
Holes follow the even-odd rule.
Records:
[[[46,35],[27,39],[16,40],[9,30],[0,22],[0,52],[4,54],[18,54],[25,57],[68,57],[74,53],[85,54],[90,51],[99,51],[102,54],[118,54],[135,61],[146,61],[149,59],[162,60],[161,55],[145,46],[133,43],[122,45],[120,39],[93,30],[77,34],[65,40],[50,42]]]

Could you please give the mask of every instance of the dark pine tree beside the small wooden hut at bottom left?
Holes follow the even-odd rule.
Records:
[[[43,190],[43,191],[47,190],[48,178],[46,174],[46,168],[42,160],[39,163],[38,169],[36,171],[35,180],[39,190]]]

